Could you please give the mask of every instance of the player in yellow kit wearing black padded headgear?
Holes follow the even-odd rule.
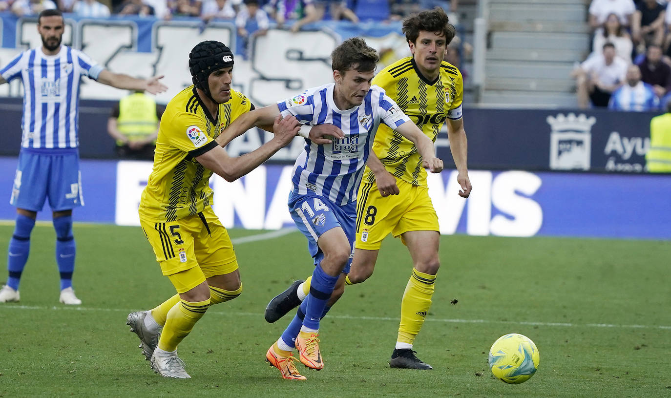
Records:
[[[221,132],[254,109],[247,97],[231,89],[233,64],[233,53],[220,42],[201,42],[191,50],[194,85],[166,107],[154,170],[142,192],[142,230],[177,294],[150,311],[130,313],[126,324],[140,338],[152,369],[163,377],[191,378],[177,356],[177,345],[210,305],[242,292],[231,240],[211,208],[210,177],[216,173],[234,181],[246,175],[289,144],[299,130],[295,117],[278,117],[272,140],[254,152],[229,157],[221,147]]]

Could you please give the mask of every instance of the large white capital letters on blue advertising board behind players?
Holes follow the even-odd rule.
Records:
[[[266,166],[228,183],[213,177],[213,209],[227,228],[250,230],[279,230],[293,225],[287,209],[291,191],[292,166],[284,166],[276,184],[268,185]],[[146,180],[152,170],[151,162],[121,161],[117,164],[117,203],[115,222],[137,226],[138,205]],[[458,195],[457,172],[452,171],[443,182],[440,175],[428,176],[429,195],[438,215],[441,234],[454,234],[466,212],[466,233],[469,235],[533,236],[543,223],[543,210],[529,198],[541,186],[541,179],[531,172],[501,172],[493,179],[491,171],[472,170],[469,173],[475,187],[466,199]],[[266,191],[273,189],[266,210]],[[491,217],[496,208],[505,215]],[[236,223],[236,218],[239,220]]]

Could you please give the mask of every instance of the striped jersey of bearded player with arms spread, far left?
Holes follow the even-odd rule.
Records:
[[[45,55],[41,47],[25,50],[2,68],[6,81],[23,81],[21,148],[77,148],[80,78],[97,80],[102,70],[68,46],[56,55]]]

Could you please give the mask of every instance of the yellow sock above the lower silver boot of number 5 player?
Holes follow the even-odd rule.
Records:
[[[210,305],[210,299],[190,303],[180,300],[176,303],[166,317],[165,326],[158,340],[158,348],[164,351],[174,351],[177,349],[183,338],[189,336],[198,319],[201,319]]]

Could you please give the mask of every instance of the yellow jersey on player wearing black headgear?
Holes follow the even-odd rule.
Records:
[[[158,128],[154,169],[142,191],[140,218],[171,222],[211,206],[212,171],[195,158],[217,146],[215,138],[221,131],[252,109],[250,100],[233,89],[216,116],[203,105],[193,85],[175,95]]]

